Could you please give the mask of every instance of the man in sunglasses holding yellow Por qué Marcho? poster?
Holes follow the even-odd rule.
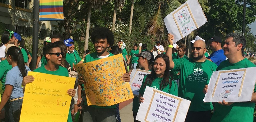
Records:
[[[41,66],[35,69],[34,72],[69,77],[68,70],[65,67],[60,66],[63,52],[61,52],[60,47],[58,45],[54,43],[47,44],[43,49],[43,53],[44,57],[46,58],[47,64],[45,66]],[[26,76],[23,78],[22,85],[25,86],[26,84],[32,83],[33,81],[33,76]],[[71,87],[71,89],[67,91],[67,93],[71,97],[74,97],[76,93],[73,87]],[[67,121],[72,122],[70,110]]]

